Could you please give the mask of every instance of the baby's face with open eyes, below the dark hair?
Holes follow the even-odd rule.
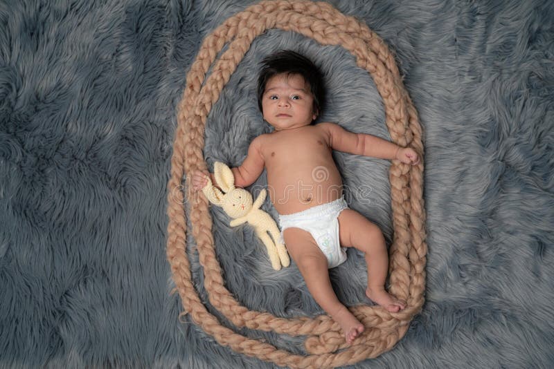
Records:
[[[301,75],[274,75],[262,96],[264,119],[276,131],[308,126],[316,119],[314,98]]]

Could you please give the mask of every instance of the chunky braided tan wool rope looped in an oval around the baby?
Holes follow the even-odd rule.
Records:
[[[272,361],[290,368],[332,368],[377,357],[390,350],[404,336],[409,322],[420,312],[425,290],[425,212],[422,200],[423,162],[410,167],[393,160],[389,172],[394,237],[390,249],[390,291],[407,302],[402,312],[391,313],[379,306],[350,308],[366,330],[350,346],[339,325],[329,316],[314,319],[283,319],[267,312],[251,311],[240,305],[226,290],[222,270],[213,246],[208,202],[190,187],[181,191],[181,179],[195,170],[206,169],[202,154],[204,126],[211,106],[229,81],[253,39],[269,28],[280,28],[312,37],[323,45],[340,45],[355,55],[357,65],[368,70],[382,96],[386,125],[394,142],[411,146],[422,156],[421,127],[411,100],[404,89],[393,55],[374,32],[353,17],[346,17],[328,3],[303,0],[261,1],[227,19],[208,35],[186,79],[179,104],[171,178],[168,182],[167,254],[183,314],[223,346],[237,352]],[[215,61],[224,46],[226,50]],[[206,73],[211,74],[206,79]],[[186,256],[185,196],[197,243],[199,262],[204,269],[208,299],[237,328],[306,335],[305,356],[280,350],[269,343],[249,339],[224,327],[206,310],[193,285]]]

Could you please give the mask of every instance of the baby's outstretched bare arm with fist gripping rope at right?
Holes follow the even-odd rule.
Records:
[[[339,124],[320,123],[318,126],[328,133],[330,145],[334,150],[372,158],[397,159],[405,164],[415,165],[420,162],[418,153],[410,147],[400,147],[393,142],[366,133],[348,132]]]

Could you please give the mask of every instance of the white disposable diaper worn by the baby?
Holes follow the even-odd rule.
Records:
[[[344,197],[327,204],[310,207],[294,214],[279,215],[281,242],[287,228],[300,228],[310,232],[319,249],[327,257],[329,268],[337,267],[346,261],[346,248],[339,241],[339,214],[348,209]]]

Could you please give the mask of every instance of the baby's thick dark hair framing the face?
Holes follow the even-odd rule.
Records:
[[[310,92],[314,99],[314,113],[318,116],[321,115],[325,102],[323,75],[310,59],[292,50],[280,50],[263,59],[262,69],[258,77],[258,107],[260,111],[263,112],[262,96],[264,95],[265,84],[271,77],[281,73],[301,75],[304,78],[305,82],[310,85]]]

